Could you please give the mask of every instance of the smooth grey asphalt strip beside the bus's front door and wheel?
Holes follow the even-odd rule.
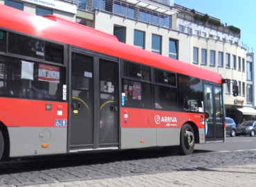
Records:
[[[226,137],[225,143],[205,143],[196,144],[196,150],[209,150],[209,151],[244,151],[244,150],[256,150],[256,136],[235,136]]]

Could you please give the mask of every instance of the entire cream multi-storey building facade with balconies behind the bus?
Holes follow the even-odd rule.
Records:
[[[120,42],[144,48],[237,80],[223,89],[226,116],[236,123],[253,118],[253,53],[246,55],[240,31],[220,19],[174,4],[172,0],[0,0],[39,16],[52,14],[116,35]],[[82,36],[79,36],[82,37]]]

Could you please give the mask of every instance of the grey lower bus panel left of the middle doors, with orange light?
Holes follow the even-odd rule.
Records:
[[[10,157],[66,153],[67,128],[8,127]],[[42,148],[48,144],[48,148]]]

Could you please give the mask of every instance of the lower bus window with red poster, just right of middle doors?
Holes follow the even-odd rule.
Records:
[[[152,109],[152,84],[134,80],[122,80],[125,107]]]

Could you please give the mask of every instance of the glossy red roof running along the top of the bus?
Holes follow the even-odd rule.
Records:
[[[115,39],[110,38],[109,34],[104,35],[98,30],[93,32],[94,29],[92,30],[91,28],[79,28],[78,26],[72,26],[72,24],[63,24],[4,5],[0,5],[0,12],[0,26],[3,28],[221,83],[221,75],[219,73],[158,55],[136,46],[114,41]]]

